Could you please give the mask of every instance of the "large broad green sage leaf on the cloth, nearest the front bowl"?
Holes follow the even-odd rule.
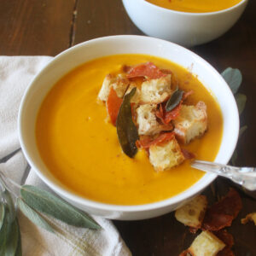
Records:
[[[23,185],[20,189],[20,195],[29,207],[60,219],[67,224],[95,230],[100,228],[100,225],[87,214],[80,212],[66,201],[43,189],[32,185]]]

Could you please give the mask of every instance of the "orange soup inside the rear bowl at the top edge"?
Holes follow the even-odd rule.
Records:
[[[189,13],[207,13],[228,9],[241,0],[146,0],[166,9]]]

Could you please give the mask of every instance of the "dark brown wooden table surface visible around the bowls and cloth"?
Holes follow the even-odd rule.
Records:
[[[256,166],[256,1],[223,37],[192,50],[219,72],[237,67],[243,74],[241,93],[247,106],[241,125],[247,131],[237,145],[237,165]],[[62,50],[91,38],[117,34],[143,34],[125,13],[120,0],[2,0],[0,3],[0,55],[57,55]],[[206,190],[213,200],[230,183],[218,178]],[[212,194],[212,189],[215,193]],[[256,193],[254,194],[256,195]],[[256,201],[241,192],[243,209],[229,229],[235,237],[238,256],[256,255],[256,227],[240,224],[240,218],[256,211]],[[133,255],[176,256],[189,246],[187,228],[173,213],[143,221],[114,221]]]

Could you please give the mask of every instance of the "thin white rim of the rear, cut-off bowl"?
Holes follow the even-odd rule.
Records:
[[[123,2],[126,0],[123,0]],[[130,1],[130,0],[128,0]],[[236,3],[235,5],[232,5],[231,7],[227,8],[227,9],[221,9],[218,11],[213,11],[213,12],[202,12],[202,13],[190,13],[190,12],[186,12],[186,11],[178,11],[178,10],[174,10],[174,9],[166,9],[164,7],[160,7],[159,5],[156,5],[154,3],[149,3],[146,0],[137,0],[141,3],[144,3],[148,6],[150,6],[151,8],[155,8],[158,9],[159,11],[163,11],[166,12],[167,14],[169,13],[173,13],[173,14],[180,14],[180,15],[191,15],[191,16],[210,16],[210,15],[219,15],[219,14],[223,14],[225,12],[229,12],[232,9],[236,9],[239,8],[242,4],[247,3],[248,0],[241,0],[239,3]]]

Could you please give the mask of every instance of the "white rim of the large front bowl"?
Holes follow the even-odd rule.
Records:
[[[51,180],[47,175],[45,175],[43,172],[41,172],[40,170],[38,170],[38,167],[34,164],[32,158],[30,157],[28,151],[26,150],[26,145],[24,143],[24,139],[23,139],[23,131],[22,131],[22,119],[23,119],[23,109],[25,108],[25,103],[26,103],[26,98],[28,96],[29,91],[32,89],[32,86],[34,83],[37,82],[37,79],[40,78],[41,74],[44,73],[45,70],[50,69],[51,67],[53,67],[55,65],[55,62],[58,61],[60,58],[62,58],[62,56],[64,55],[69,55],[70,52],[72,52],[73,50],[77,50],[79,48],[84,47],[84,45],[88,46],[90,44],[95,44],[98,42],[104,42],[104,41],[108,41],[108,40],[115,40],[116,38],[119,39],[139,39],[139,40],[153,40],[155,41],[155,43],[167,43],[167,44],[172,44],[172,47],[176,47],[178,49],[184,50],[186,52],[188,52],[189,55],[194,56],[195,58],[197,58],[199,61],[203,61],[204,64],[207,66],[207,68],[211,68],[213,73],[216,73],[218,75],[218,77],[220,79],[222,79],[222,82],[226,85],[227,89],[230,90],[230,87],[228,84],[226,84],[226,82],[224,81],[224,79],[222,78],[222,76],[217,72],[217,70],[212,67],[211,64],[209,64],[207,61],[205,61],[203,58],[201,58],[201,56],[196,55],[194,52],[192,52],[189,49],[184,48],[183,46],[180,46],[178,44],[174,44],[172,42],[168,42],[166,40],[160,39],[160,38],[150,38],[150,37],[146,37],[146,36],[137,36],[137,35],[118,35],[118,36],[108,36],[108,37],[102,37],[102,38],[94,38],[88,41],[85,41],[83,43],[74,45],[73,47],[66,49],[64,51],[62,51],[60,54],[56,55],[51,61],[49,61],[49,63],[34,77],[34,79],[32,79],[32,82],[27,86],[26,91],[24,93],[24,95],[22,96],[21,102],[20,102],[20,108],[19,108],[19,113],[18,113],[18,133],[19,133],[19,140],[20,140],[20,146],[22,148],[22,151],[24,153],[24,155],[26,156],[26,160],[28,161],[28,163],[30,164],[30,166],[32,167],[32,169],[37,173],[38,177],[40,177],[41,180],[44,181],[44,183],[46,183],[50,189],[53,189],[55,192],[57,192],[57,194],[63,195],[63,197],[67,198],[67,200],[69,201],[73,201],[74,203],[78,203],[80,205],[83,205],[85,207],[92,207],[94,209],[98,209],[98,210],[106,210],[106,211],[113,211],[113,212],[143,212],[143,211],[148,211],[148,210],[155,210],[155,209],[159,209],[159,208],[163,208],[163,207],[168,207],[174,204],[177,204],[181,201],[185,201],[195,195],[197,195],[202,189],[205,189],[210,183],[212,183],[212,181],[217,177],[217,175],[212,174],[212,173],[206,173],[203,177],[201,177],[201,179],[205,179],[205,181],[203,183],[201,183],[201,179],[199,179],[196,183],[192,184],[188,189],[180,192],[177,195],[172,196],[171,198],[167,198],[165,200],[162,201],[156,201],[156,202],[152,202],[152,203],[147,203],[147,204],[141,204],[141,205],[114,205],[114,204],[108,204],[108,203],[103,203],[100,201],[93,201],[90,199],[86,199],[85,197],[81,196],[81,195],[77,195],[75,194],[73,191],[71,190],[67,190],[64,188],[64,186],[61,187],[61,185],[56,184],[53,180]],[[232,153],[234,152],[235,148],[236,148],[236,143],[238,140],[238,134],[239,134],[239,114],[238,114],[238,110],[237,110],[237,106],[236,106],[236,101],[235,98],[230,90],[230,94],[232,95],[232,101],[233,103],[235,103],[234,107],[236,109],[234,109],[234,113],[235,114],[235,121],[234,121],[234,126],[236,125],[236,127],[234,127],[234,131],[235,131],[235,136],[234,136],[234,141],[232,144],[232,148],[231,149],[231,154],[228,155],[228,160],[227,162],[230,160]],[[196,186],[195,186],[196,185]],[[192,189],[192,190],[191,190]]]

